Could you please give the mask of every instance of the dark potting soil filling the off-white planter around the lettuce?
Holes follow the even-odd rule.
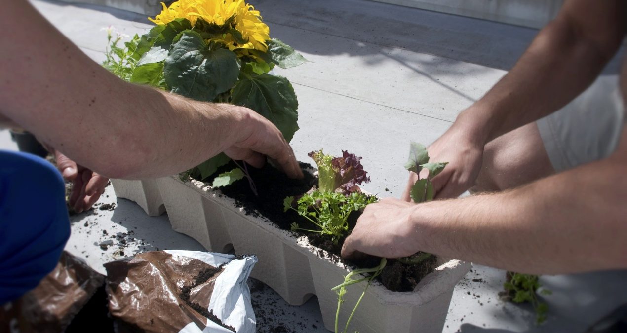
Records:
[[[222,172],[230,171],[237,167],[233,162],[218,169],[216,176]],[[293,210],[283,211],[283,201],[288,196],[300,196],[307,193],[317,183],[317,177],[312,176],[305,171],[311,169],[311,165],[300,162],[303,169],[304,179],[290,179],[281,171],[278,171],[270,164],[266,164],[261,169],[248,167],[250,176],[255,182],[257,196],[250,188],[248,179],[243,178],[233,182],[229,186],[221,188],[220,191],[229,198],[233,198],[238,207],[244,209],[245,213],[252,216],[265,216],[270,219],[278,228],[282,230],[291,230],[293,222],[303,229],[315,230],[317,228],[313,223],[298,215]],[[206,179],[206,182],[213,182],[213,179]],[[357,219],[361,215],[360,212],[354,212],[349,216],[349,230],[352,230],[357,223]],[[340,260],[340,251],[344,238],[340,239],[337,244],[331,241],[329,235],[321,235],[319,233],[297,232],[298,235],[305,235],[311,245],[317,246],[329,253],[327,257],[331,262],[337,263]],[[323,254],[322,251],[319,252]],[[424,278],[428,273],[433,272],[436,268],[435,256],[431,256],[428,260],[418,265],[404,265],[394,259],[387,260],[387,265],[383,269],[381,275],[377,278],[386,288],[395,292],[408,292]],[[364,255],[359,260],[349,262],[359,268],[371,268],[379,265],[381,258],[376,256]],[[339,284],[339,282],[338,282]]]

